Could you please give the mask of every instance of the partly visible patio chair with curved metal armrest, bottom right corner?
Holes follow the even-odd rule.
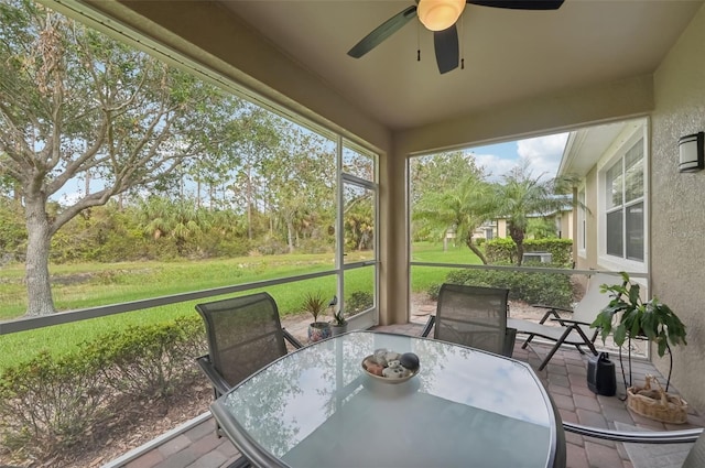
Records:
[[[703,432],[702,427],[683,431],[627,432],[563,423],[563,428],[566,432],[587,437],[627,444],[687,444],[694,442],[695,445],[687,453],[681,468],[705,467],[705,432]]]

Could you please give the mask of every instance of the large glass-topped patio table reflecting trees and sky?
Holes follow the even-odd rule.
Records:
[[[367,374],[377,349],[414,352],[419,373]],[[440,340],[350,331],[299,349],[212,405],[262,467],[565,466],[560,416],[525,363]]]

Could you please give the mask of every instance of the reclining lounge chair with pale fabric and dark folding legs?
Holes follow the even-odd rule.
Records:
[[[597,314],[609,304],[610,297],[608,294],[603,294],[599,291],[601,284],[616,284],[619,282],[620,276],[610,275],[606,273],[595,273],[590,276],[587,291],[579,303],[575,305],[573,309],[563,307],[555,307],[549,305],[534,305],[534,307],[546,308],[546,313],[541,320],[535,322],[527,320],[523,318],[507,319],[507,326],[516,328],[520,334],[527,334],[529,337],[524,340],[521,347],[523,349],[539,336],[544,339],[555,341],[553,348],[549,351],[539,370],[543,370],[549,364],[553,355],[563,345],[574,346],[581,353],[585,353],[583,346],[587,347],[593,355],[597,356],[597,349],[595,348],[595,339],[599,333],[598,328],[590,328],[590,324],[597,317]],[[572,318],[563,318],[558,312],[573,313]],[[554,324],[560,326],[546,325],[546,320],[551,319]]]

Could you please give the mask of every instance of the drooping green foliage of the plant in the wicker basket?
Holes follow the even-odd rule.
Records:
[[[627,337],[643,336],[658,345],[660,357],[663,357],[671,345],[687,345],[685,325],[675,313],[655,296],[642,301],[639,284],[632,283],[629,274],[620,274],[621,284],[600,285],[600,291],[610,293],[612,297],[590,325],[601,328],[603,342],[614,329],[617,346],[621,346]]]

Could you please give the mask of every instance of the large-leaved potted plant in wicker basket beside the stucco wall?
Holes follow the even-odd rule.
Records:
[[[685,325],[668,305],[653,296],[643,301],[640,286],[629,280],[629,274],[621,272],[621,284],[603,284],[600,291],[610,293],[611,300],[593,322],[593,327],[601,328],[603,342],[614,330],[614,340],[620,347],[627,338],[648,339],[657,344],[660,357],[669,351],[671,363],[666,379],[665,391],[652,389],[651,376],[647,377],[644,387],[631,384],[631,353],[629,355],[629,387],[627,388],[627,406],[642,416],[668,423],[684,423],[687,420],[686,404],[679,396],[669,394],[673,356],[671,346],[687,345],[685,341]],[[620,355],[621,356],[621,355]],[[623,372],[622,372],[623,376]],[[658,381],[655,381],[658,384]]]

